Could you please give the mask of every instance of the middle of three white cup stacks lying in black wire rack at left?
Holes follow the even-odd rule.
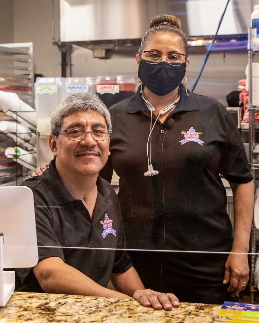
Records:
[[[12,134],[13,136],[10,137],[13,138],[17,144],[29,142],[33,146],[36,145],[36,134],[22,124],[3,120],[0,121],[0,131],[7,135]]]

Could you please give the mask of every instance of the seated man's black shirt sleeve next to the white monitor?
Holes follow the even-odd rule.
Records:
[[[46,205],[44,200],[37,195],[37,192],[35,192],[35,190],[33,190],[33,195],[39,253],[38,263],[44,258],[48,257],[60,257],[64,261],[62,248],[59,248],[61,247],[61,245],[52,230],[52,216],[50,208]],[[46,246],[54,246],[55,248]],[[27,276],[31,276],[32,268],[17,268],[16,272],[21,282],[24,283]]]

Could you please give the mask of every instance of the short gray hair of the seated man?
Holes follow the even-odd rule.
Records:
[[[69,94],[51,115],[51,134],[59,136],[59,131],[63,123],[63,119],[75,112],[84,112],[93,109],[104,117],[107,128],[111,130],[111,117],[106,105],[94,92]]]

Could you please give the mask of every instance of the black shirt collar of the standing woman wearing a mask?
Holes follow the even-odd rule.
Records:
[[[184,87],[184,84],[181,84]],[[195,111],[199,110],[195,94],[187,90],[189,96],[186,96],[185,90],[180,92],[180,100],[177,102],[177,107],[174,109],[174,113],[179,111]],[[149,113],[149,109],[145,105],[142,99],[142,94],[140,93],[140,87],[137,89],[136,93],[129,99],[127,113],[136,113],[142,111],[144,114]]]

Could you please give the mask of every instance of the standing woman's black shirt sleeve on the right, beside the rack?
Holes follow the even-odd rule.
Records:
[[[247,156],[240,132],[229,112],[225,116],[228,125],[228,138],[222,150],[221,174],[232,183],[247,183],[252,181]]]

